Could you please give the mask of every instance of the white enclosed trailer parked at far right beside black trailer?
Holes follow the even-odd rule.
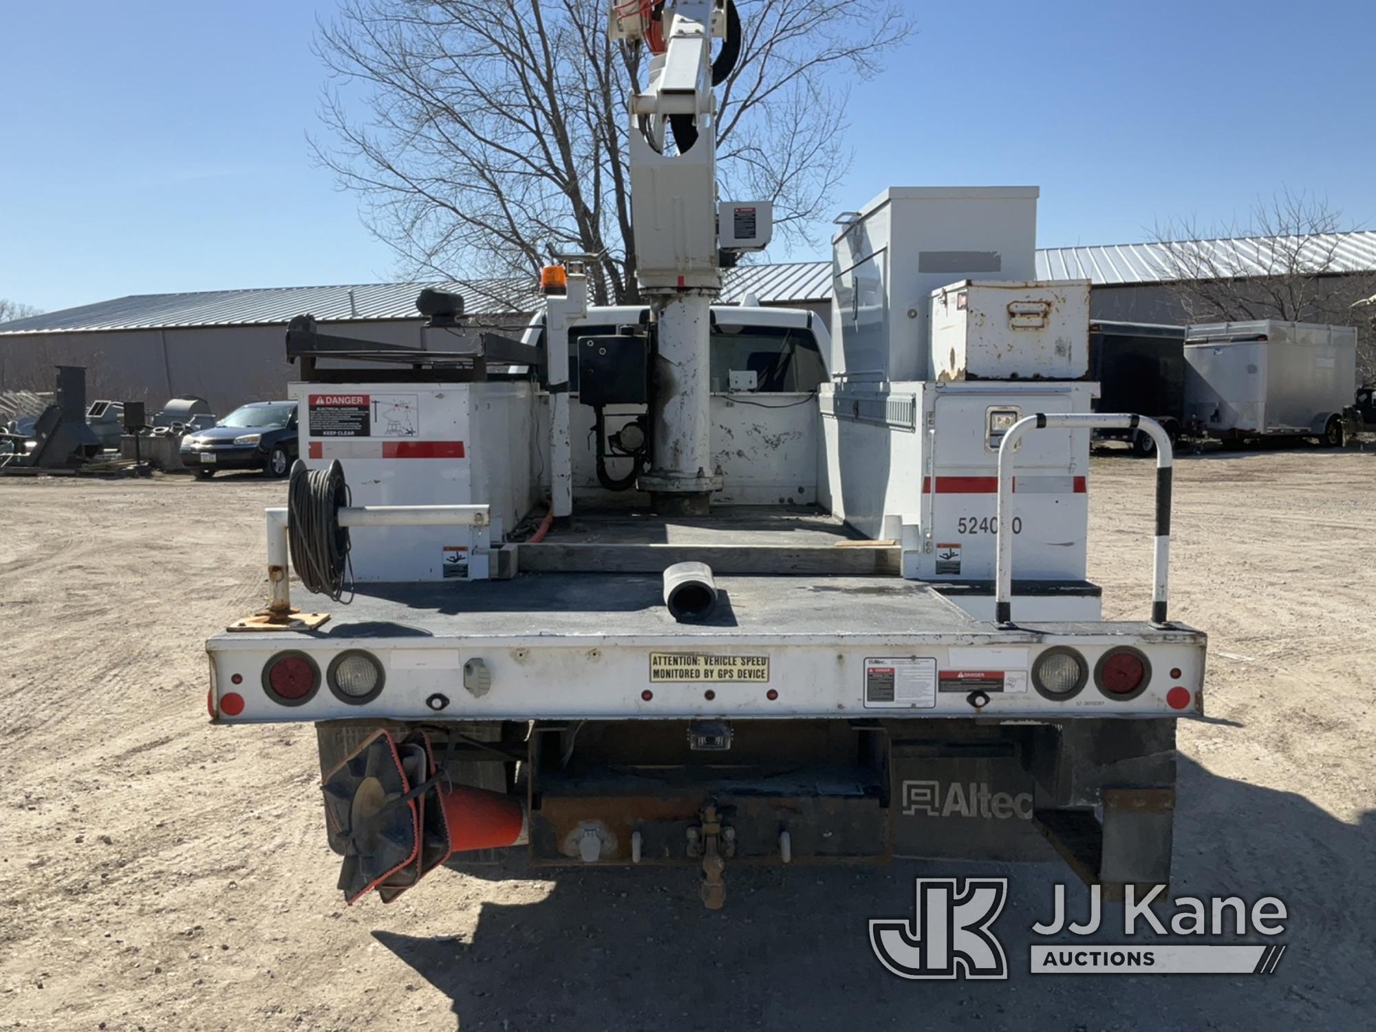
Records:
[[[1258,319],[1190,326],[1185,420],[1211,436],[1343,443],[1357,392],[1357,330]]]

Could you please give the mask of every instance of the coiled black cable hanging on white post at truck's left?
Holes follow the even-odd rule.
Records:
[[[301,586],[340,601],[344,582],[352,590],[348,527],[341,527],[338,510],[350,504],[344,466],[334,460],[325,469],[307,469],[296,460],[286,488],[288,545],[292,566]]]

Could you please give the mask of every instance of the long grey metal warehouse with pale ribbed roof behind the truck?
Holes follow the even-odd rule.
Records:
[[[1255,241],[1200,241],[1238,248]],[[1160,245],[1050,248],[1036,255],[1040,279],[1090,279],[1091,315],[1131,322],[1183,322],[1165,282]],[[1376,231],[1337,234],[1335,272],[1376,270]],[[422,345],[416,294],[440,286],[464,294],[472,321],[515,329],[538,304],[513,281],[370,283],[267,288],[178,294],[135,294],[0,323],[0,391],[52,389],[54,366],[87,367],[91,399],[135,399],[153,406],[173,396],[201,396],[217,413],[264,398],[281,398],[292,378],[283,330],[310,312],[325,332]],[[740,301],[809,308],[830,322],[831,263],[798,261],[731,270],[724,304]],[[429,347],[444,350],[429,330]]]

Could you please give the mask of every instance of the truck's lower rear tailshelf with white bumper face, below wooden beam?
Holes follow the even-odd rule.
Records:
[[[899,579],[718,578],[710,623],[674,622],[659,579],[523,575],[453,588],[373,586],[314,632],[211,638],[211,711],[222,722],[378,720],[1179,717],[1203,713],[1205,636],[1135,622],[999,627],[926,585]],[[1086,670],[1068,694],[1039,689],[1038,659],[1071,651]],[[1141,691],[1116,695],[1097,667],[1145,659]],[[351,699],[332,678],[344,652],[384,671]],[[274,692],[283,654],[314,687]]]

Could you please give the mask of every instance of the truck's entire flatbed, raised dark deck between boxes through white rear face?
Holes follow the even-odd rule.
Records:
[[[347,603],[303,599],[329,615],[315,630],[216,634],[222,700],[226,678],[241,685],[238,711],[222,705],[220,718],[1152,717],[1181,716],[1168,670],[1203,674],[1196,630],[980,621],[940,585],[899,575],[893,542],[809,509],[588,515],[515,548],[506,579],[361,583]],[[702,622],[663,603],[662,572],[684,560],[716,571],[718,605]],[[1046,649],[1077,649],[1093,669],[1124,647],[1159,656],[1141,694],[1035,689]],[[385,670],[376,698],[333,688],[332,665],[352,651]],[[318,670],[308,698],[267,689],[285,654]]]

